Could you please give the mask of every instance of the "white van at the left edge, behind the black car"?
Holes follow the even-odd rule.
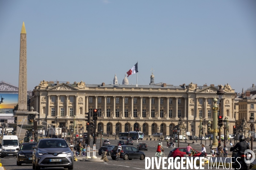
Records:
[[[17,148],[19,148],[19,140],[16,135],[4,135],[2,139],[1,158],[5,156],[17,156]]]

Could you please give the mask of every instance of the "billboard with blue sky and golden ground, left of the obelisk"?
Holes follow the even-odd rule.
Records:
[[[14,107],[18,104],[18,94],[0,93],[0,113],[13,113]]]

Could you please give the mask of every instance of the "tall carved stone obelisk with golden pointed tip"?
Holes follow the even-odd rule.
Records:
[[[24,22],[20,32],[20,72],[18,110],[27,111],[26,28]]]

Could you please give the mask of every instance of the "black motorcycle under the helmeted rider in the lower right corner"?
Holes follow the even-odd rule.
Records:
[[[235,155],[238,152],[238,149],[233,150],[233,147],[230,148],[230,151],[232,151],[232,167],[236,170],[250,170],[254,166],[253,163],[250,163],[250,160],[252,159],[252,154],[250,152],[244,152],[244,154],[240,155],[235,159]]]

